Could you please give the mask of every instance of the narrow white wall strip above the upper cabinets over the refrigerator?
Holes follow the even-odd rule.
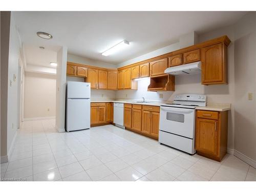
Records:
[[[73,54],[70,54],[70,53],[68,53],[67,61],[76,62],[76,63],[89,65],[89,66],[102,67],[102,68],[116,68],[116,65],[113,65],[113,64],[108,63],[108,62],[89,59],[89,58],[86,58],[86,57],[80,57],[80,56],[73,55]]]

